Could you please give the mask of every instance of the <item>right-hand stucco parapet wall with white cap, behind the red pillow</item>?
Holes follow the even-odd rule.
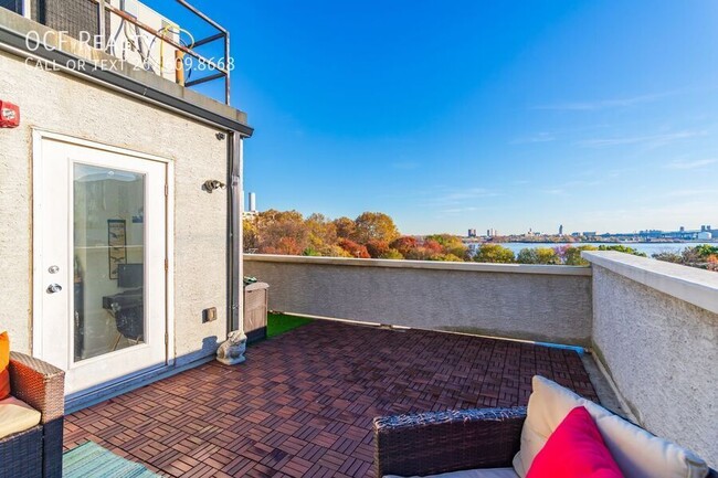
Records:
[[[620,253],[584,257],[593,349],[622,397],[646,429],[718,467],[718,314],[707,309],[718,307],[718,274]]]

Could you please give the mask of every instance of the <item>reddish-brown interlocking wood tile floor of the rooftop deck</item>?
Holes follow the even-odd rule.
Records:
[[[596,400],[573,351],[316,321],[76,412],[65,448],[93,440],[163,476],[373,476],[374,416],[525,405],[541,374]]]

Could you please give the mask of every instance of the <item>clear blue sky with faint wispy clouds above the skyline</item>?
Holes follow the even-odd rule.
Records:
[[[261,210],[718,227],[718,2],[209,1]]]

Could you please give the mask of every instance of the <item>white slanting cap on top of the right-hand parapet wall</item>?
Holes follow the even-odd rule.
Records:
[[[718,274],[614,251],[581,253],[591,264],[718,314]]]

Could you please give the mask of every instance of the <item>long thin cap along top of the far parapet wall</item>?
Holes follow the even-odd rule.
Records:
[[[358,258],[349,258],[349,257],[285,256],[285,255],[274,255],[274,254],[244,254],[244,261],[264,262],[264,263],[283,263],[283,264],[308,264],[308,265],[321,265],[321,266],[342,266],[342,267],[386,267],[386,268],[401,268],[401,269],[464,270],[468,273],[591,276],[590,267],[580,267],[580,266],[452,263],[452,262],[440,262],[440,261],[358,259]]]

